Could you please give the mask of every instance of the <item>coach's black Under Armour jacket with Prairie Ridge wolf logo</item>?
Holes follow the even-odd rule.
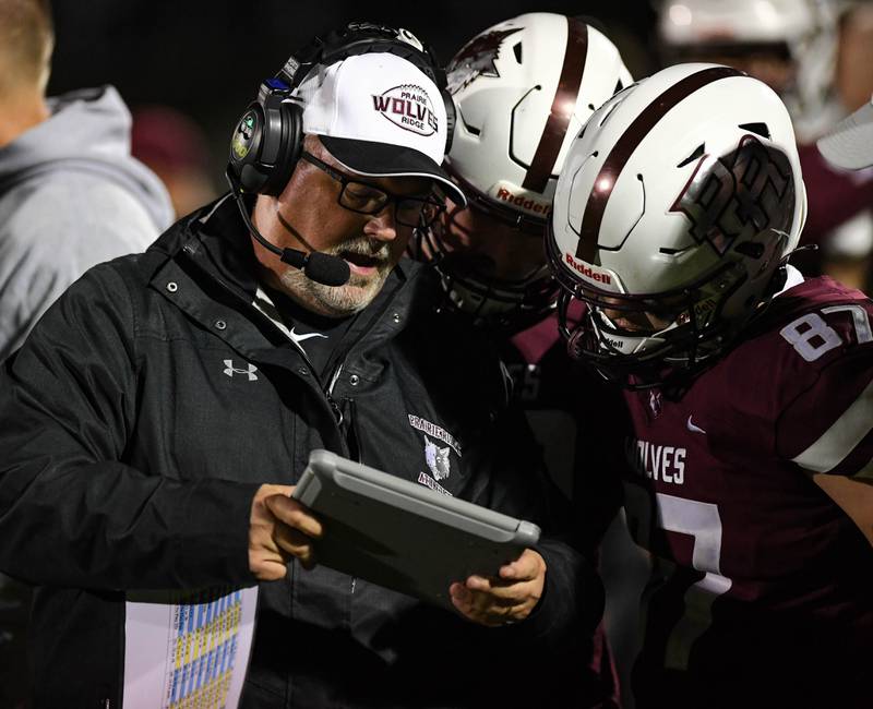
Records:
[[[418,264],[394,269],[324,380],[251,305],[251,266],[225,200],[146,253],[89,271],[5,364],[0,569],[38,586],[38,707],[120,706],[125,590],[253,586],[252,496],[263,482],[294,484],[312,448],[415,479],[428,469],[419,417],[457,440],[449,492],[554,526],[495,360],[434,314]],[[228,375],[225,360],[256,366],[256,380]],[[292,564],[261,584],[242,706],[547,705],[555,658],[601,599],[567,545],[538,551],[545,599],[500,629]]]

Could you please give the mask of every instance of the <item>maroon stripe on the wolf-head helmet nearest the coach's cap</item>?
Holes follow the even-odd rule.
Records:
[[[588,25],[578,20],[567,17],[566,50],[564,51],[564,65],[558,80],[558,89],[554,92],[552,109],[546,120],[546,128],[534,153],[530,167],[527,168],[525,190],[543,192],[552,175],[554,161],[564,143],[566,129],[576,107],[579,95],[582,74],[585,71],[585,58],[588,56]]]

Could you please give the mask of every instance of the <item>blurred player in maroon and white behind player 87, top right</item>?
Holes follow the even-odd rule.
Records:
[[[873,173],[829,166],[814,142],[870,95],[873,14],[840,0],[667,0],[658,40],[666,64],[707,61],[760,79],[785,100],[794,121],[809,216],[799,253],[806,272],[851,287],[870,284]]]

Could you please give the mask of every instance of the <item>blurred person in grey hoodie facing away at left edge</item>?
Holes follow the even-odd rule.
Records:
[[[0,0],[0,361],[96,263],[142,251],[171,221],[166,190],[130,157],[111,86],[48,98],[47,0]],[[0,575],[0,706],[23,700],[29,592]]]

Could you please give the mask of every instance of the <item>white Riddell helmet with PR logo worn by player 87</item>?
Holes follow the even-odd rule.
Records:
[[[782,280],[805,205],[791,120],[762,82],[678,64],[615,95],[573,142],[549,223],[571,354],[632,386],[714,361]],[[571,295],[588,304],[572,333]]]

